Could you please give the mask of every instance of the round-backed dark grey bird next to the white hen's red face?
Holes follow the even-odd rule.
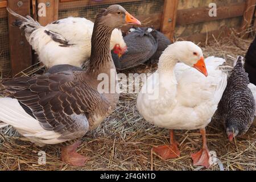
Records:
[[[150,59],[158,48],[158,42],[147,28],[137,28],[127,34],[125,40],[127,51],[118,57],[112,53],[115,67],[117,69],[127,69],[136,67]]]

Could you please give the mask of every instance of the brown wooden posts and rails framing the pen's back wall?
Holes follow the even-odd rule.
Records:
[[[27,40],[20,34],[20,30],[12,23],[14,17],[7,14],[5,10],[6,6],[10,6],[11,9],[21,15],[32,15],[34,19],[38,20],[40,24],[45,26],[48,23],[58,19],[59,10],[67,10],[71,6],[72,8],[94,6],[94,5],[106,5],[109,3],[123,3],[123,2],[138,2],[143,0],[104,0],[102,2],[94,2],[91,0],[22,0],[23,6],[18,7],[18,0],[0,0],[0,18],[9,18],[9,31],[10,31],[10,57],[11,57],[11,69],[13,75],[22,71],[23,69],[31,66],[31,48],[27,43]],[[143,24],[142,26],[151,26],[154,24],[156,29],[160,29],[164,34],[173,40],[175,27],[184,26],[194,23],[203,23],[212,20],[220,20],[226,18],[234,18],[243,16],[244,19],[241,24],[241,31],[246,30],[250,26],[254,26],[256,30],[256,12],[255,4],[256,0],[246,0],[245,3],[233,3],[232,5],[220,6],[218,8],[218,16],[209,17],[209,7],[197,7],[191,9],[178,10],[178,3],[181,0],[165,0],[163,13],[152,13],[147,15],[135,15],[136,18],[142,22],[147,22],[150,19],[150,23]],[[46,7],[45,17],[39,17],[37,15],[39,3],[50,2],[50,5]],[[32,11],[30,10],[32,5]],[[30,12],[31,11],[31,12]],[[32,14],[31,14],[32,13]],[[161,20],[160,20],[161,19]],[[253,24],[254,19],[254,24]],[[160,20],[160,21],[159,21]],[[123,27],[122,30],[126,31],[129,27]],[[218,36],[222,34],[224,30],[216,30],[208,33],[200,33],[193,36],[183,37],[184,40],[202,41],[206,36],[213,34]]]

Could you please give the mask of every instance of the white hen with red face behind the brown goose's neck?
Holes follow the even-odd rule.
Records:
[[[94,25],[92,21],[69,17],[43,27],[30,16],[25,18],[9,8],[7,10],[17,18],[14,24],[24,31],[28,43],[47,68],[59,64],[81,67],[89,59]],[[110,49],[119,57],[127,49],[122,32],[117,28],[112,32]]]

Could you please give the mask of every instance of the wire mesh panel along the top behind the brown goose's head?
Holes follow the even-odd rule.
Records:
[[[74,3],[63,3],[61,9],[59,10],[59,19],[67,18],[68,16],[73,17],[84,17],[86,19],[94,21],[98,11],[100,9],[106,9],[108,6],[116,4],[116,1],[109,1],[106,4],[102,2],[90,2],[89,6],[86,7],[73,7]],[[92,5],[93,3],[93,5]],[[104,4],[102,4],[104,3]],[[130,14],[133,15],[149,15],[154,13],[163,12],[164,0],[144,0],[144,1],[134,1],[134,2],[122,2],[118,5],[123,6]]]

